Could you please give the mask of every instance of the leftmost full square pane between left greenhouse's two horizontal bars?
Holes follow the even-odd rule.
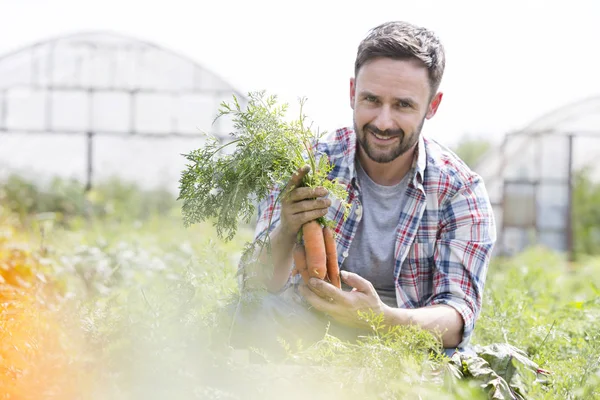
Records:
[[[6,127],[42,130],[46,127],[46,92],[14,89],[6,95]]]

